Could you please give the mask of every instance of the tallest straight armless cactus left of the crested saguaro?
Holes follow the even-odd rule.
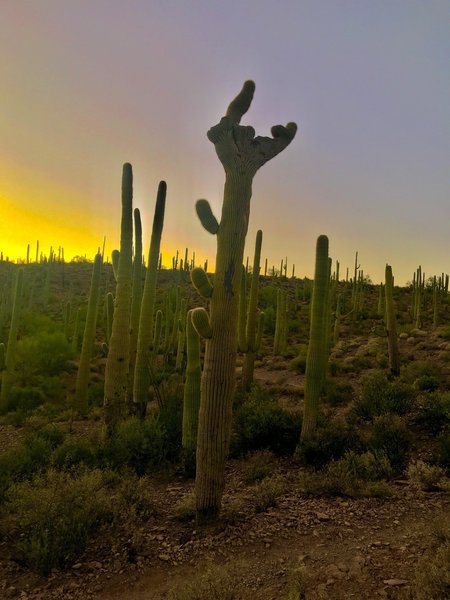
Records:
[[[120,255],[114,320],[105,367],[104,423],[111,436],[126,414],[126,394],[130,360],[130,312],[133,273],[133,171],[129,163],[122,172],[122,219]]]

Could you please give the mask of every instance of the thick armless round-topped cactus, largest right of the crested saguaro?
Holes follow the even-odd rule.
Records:
[[[328,261],[328,238],[320,235],[316,244],[314,287],[311,301],[311,324],[305,371],[305,405],[301,441],[312,437],[316,430],[319,399],[328,358],[328,288],[330,268]]]

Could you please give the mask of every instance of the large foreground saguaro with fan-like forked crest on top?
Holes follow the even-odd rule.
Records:
[[[208,131],[225,169],[225,188],[216,231],[216,272],[209,315],[211,337],[206,342],[199,414],[196,506],[200,519],[219,512],[225,484],[235,390],[240,266],[253,177],[262,165],[286,148],[297,131],[295,123],[289,123],[286,127],[272,127],[273,138],[255,137],[253,127],[239,125],[250,108],[254,90],[255,84],[247,81],[219,124]],[[198,205],[197,213],[205,229],[214,231],[211,221],[214,225],[216,220],[211,219],[211,209],[207,210],[209,218],[202,215]]]

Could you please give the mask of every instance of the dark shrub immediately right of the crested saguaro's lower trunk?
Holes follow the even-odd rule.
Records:
[[[278,455],[292,454],[299,435],[298,413],[281,408],[267,392],[254,387],[234,413],[232,453],[267,449]]]

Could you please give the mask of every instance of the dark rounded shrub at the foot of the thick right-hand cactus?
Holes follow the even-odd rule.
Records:
[[[301,463],[316,469],[323,468],[330,460],[338,459],[359,446],[356,431],[343,421],[329,421],[319,426],[314,435],[302,441],[296,450]]]

